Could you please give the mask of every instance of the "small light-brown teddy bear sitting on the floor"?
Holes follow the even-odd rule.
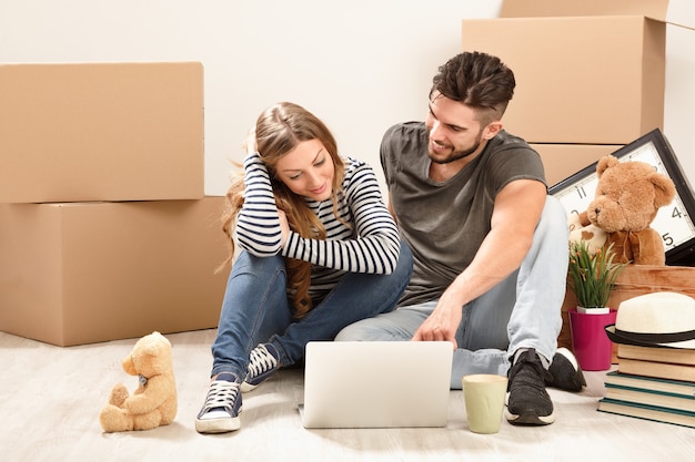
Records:
[[[109,404],[99,413],[103,430],[150,430],[170,424],[178,401],[169,340],[157,331],[142,337],[123,359],[123,370],[138,376],[140,383],[132,396],[122,383],[113,387]]]

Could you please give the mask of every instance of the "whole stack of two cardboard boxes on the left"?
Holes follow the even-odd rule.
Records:
[[[59,346],[216,326],[200,63],[0,65],[0,330]]]

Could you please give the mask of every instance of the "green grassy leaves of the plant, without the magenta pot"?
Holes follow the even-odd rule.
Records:
[[[595,315],[610,311],[606,306],[608,297],[625,267],[625,264],[613,261],[612,248],[613,244],[592,253],[584,240],[570,243],[567,284],[576,295],[577,311]]]

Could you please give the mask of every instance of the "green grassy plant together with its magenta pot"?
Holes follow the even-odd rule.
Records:
[[[568,310],[572,350],[584,370],[606,370],[613,359],[613,342],[605,327],[617,311],[607,307],[615,280],[625,264],[615,263],[612,245],[591,251],[585,242],[570,243],[567,286],[577,307]]]

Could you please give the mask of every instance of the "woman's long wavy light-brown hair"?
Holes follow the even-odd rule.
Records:
[[[319,140],[331,155],[335,174],[333,175],[331,201],[333,213],[338,217],[338,197],[343,194],[342,183],[345,164],[338,154],[335,138],[321,120],[304,107],[289,102],[278,103],[265,110],[255,123],[256,150],[268,167],[275,195],[275,204],[288,217],[290,228],[302,237],[325,238],[325,229],[319,217],[309,208],[305,198],[290,191],[276,178],[278,161],[294,150],[300,143]],[[236,178],[226,193],[226,207],[222,214],[222,230],[228,236],[229,257],[223,266],[234,256],[233,229],[236,214],[244,198],[243,177]],[[309,296],[311,285],[311,264],[309,261],[285,258],[288,271],[288,291],[292,297],[293,316],[304,317],[312,308]]]

